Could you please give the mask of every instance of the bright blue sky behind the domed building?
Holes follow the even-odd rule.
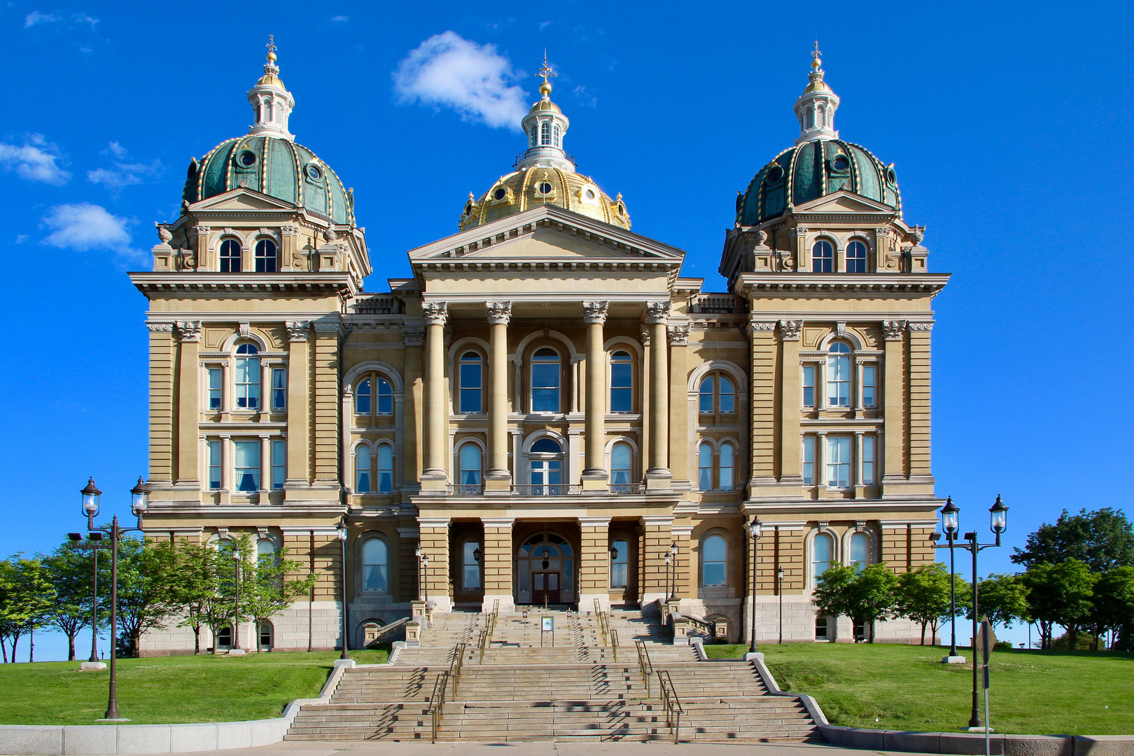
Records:
[[[146,468],[146,331],[125,271],[156,243],[153,221],[176,218],[189,158],[247,129],[269,33],[291,130],[355,188],[370,289],[408,274],[405,250],[456,231],[468,193],[510,170],[524,146],[513,114],[538,97],[547,49],[579,170],[721,290],[736,192],[792,144],[818,35],[836,127],[896,163],[931,270],[954,273],[934,303],[939,494],[985,533],[1002,494],[1009,544],[1065,507],[1128,509],[1119,352],[1134,274],[1115,255],[1132,221],[1132,15],[1123,2],[7,2],[0,553],[50,550],[79,527],[88,475],[104,511],[127,509]],[[440,50],[483,82],[445,66],[414,78]],[[985,551],[981,571],[1009,570],[1008,552]],[[44,659],[61,648],[40,644]]]

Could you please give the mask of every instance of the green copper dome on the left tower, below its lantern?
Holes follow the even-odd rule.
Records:
[[[332,223],[354,226],[354,197],[306,147],[273,136],[221,142],[189,164],[184,199],[200,202],[246,187],[298,205]]]

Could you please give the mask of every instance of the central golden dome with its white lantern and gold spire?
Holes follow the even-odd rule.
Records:
[[[575,159],[564,150],[570,121],[559,105],[551,102],[551,82],[548,79],[557,74],[545,58],[536,76],[543,79],[540,101],[521,121],[527,150],[516,159],[516,170],[497,179],[479,199],[469,193],[460,213],[460,230],[516,215],[540,204],[558,205],[629,229],[631,216],[623,195],[611,199],[594,179],[576,173]]]

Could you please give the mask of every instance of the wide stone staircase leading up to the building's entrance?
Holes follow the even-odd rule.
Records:
[[[540,646],[539,619],[553,617],[556,644]],[[662,740],[674,737],[659,680],[648,689],[634,640],[672,681],[684,713],[680,739],[767,742],[821,739],[798,698],[769,695],[748,662],[702,662],[693,646],[666,645],[657,614],[613,610],[618,659],[596,618],[532,611],[497,618],[492,642],[476,645],[488,615],[435,615],[422,647],[392,664],[345,670],[331,700],[304,705],[286,740],[429,740],[430,697],[454,646],[468,644],[450,682],[438,733],[446,741]]]

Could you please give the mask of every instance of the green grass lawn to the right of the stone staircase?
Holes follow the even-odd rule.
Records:
[[[705,646],[738,659],[746,645]],[[941,664],[947,649],[889,644],[762,644],[784,690],[810,694],[831,724],[956,732],[968,724],[972,666]],[[960,652],[968,661],[972,653]],[[1134,654],[996,651],[989,708],[997,732],[1134,733]],[[680,691],[678,691],[680,693]],[[984,696],[981,691],[981,719]]]

